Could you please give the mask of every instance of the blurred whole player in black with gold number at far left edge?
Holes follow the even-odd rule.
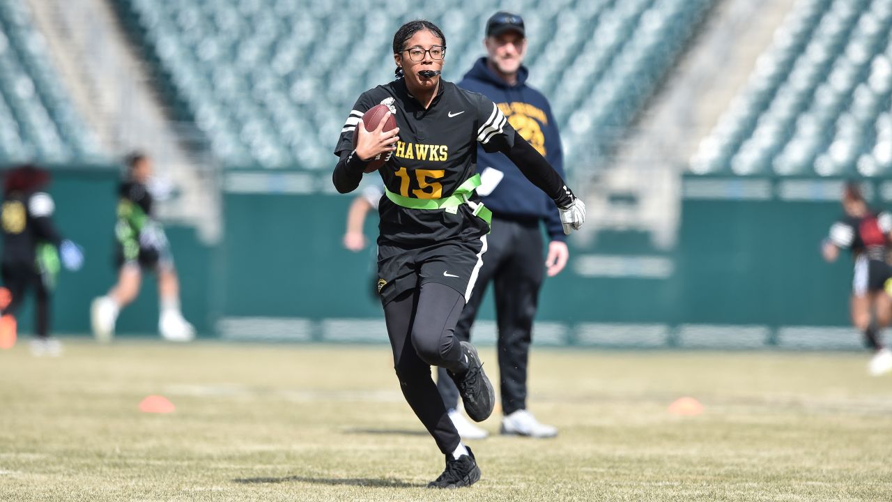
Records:
[[[78,270],[84,262],[79,247],[62,238],[53,223],[53,197],[40,191],[50,181],[49,172],[33,165],[22,165],[8,172],[4,180],[2,275],[5,295],[0,317],[0,347],[9,348],[16,339],[15,315],[25,294],[34,289],[37,314],[35,356],[59,356],[62,344],[50,336],[50,297],[55,288],[61,262],[69,270]]]

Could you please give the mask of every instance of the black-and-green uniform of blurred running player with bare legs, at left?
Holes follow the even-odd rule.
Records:
[[[173,256],[167,236],[161,223],[152,217],[153,199],[148,188],[143,183],[128,180],[120,184],[118,195],[117,266],[138,264],[152,270],[172,267]]]

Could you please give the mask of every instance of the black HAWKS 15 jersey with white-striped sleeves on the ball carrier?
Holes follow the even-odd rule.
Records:
[[[441,80],[433,102],[425,109],[409,95],[405,81],[396,79],[359,96],[341,130],[335,155],[353,150],[353,131],[359,119],[379,104],[390,107],[400,128],[400,141],[378,172],[384,187],[403,197],[449,197],[475,174],[477,144],[487,152],[507,151],[516,138],[499,107],[481,94]],[[475,197],[472,200],[477,200]],[[408,209],[384,197],[379,212],[381,239],[413,246],[448,238],[469,240],[488,231],[468,205],[450,213]]]

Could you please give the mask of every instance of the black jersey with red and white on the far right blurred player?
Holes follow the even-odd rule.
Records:
[[[865,255],[871,260],[885,261],[890,231],[892,214],[845,216],[830,227],[830,241],[837,247],[849,249],[855,257]]]

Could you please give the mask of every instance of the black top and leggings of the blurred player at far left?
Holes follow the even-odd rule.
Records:
[[[57,248],[62,237],[53,224],[55,205],[44,192],[12,192],[0,210],[3,226],[2,276],[12,301],[2,314],[17,314],[29,289],[34,289],[36,334],[49,334],[50,294],[59,272]]]

